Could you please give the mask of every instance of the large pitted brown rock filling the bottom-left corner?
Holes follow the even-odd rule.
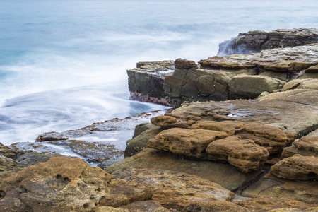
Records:
[[[51,158],[0,184],[4,211],[92,211],[107,193],[110,175],[79,158]]]

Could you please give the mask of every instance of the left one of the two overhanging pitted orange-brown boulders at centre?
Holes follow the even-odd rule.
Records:
[[[148,141],[148,147],[170,151],[177,155],[206,158],[206,147],[216,139],[228,136],[221,131],[205,129],[167,129]]]

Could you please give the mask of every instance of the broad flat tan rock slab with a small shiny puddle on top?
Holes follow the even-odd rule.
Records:
[[[259,122],[305,136],[318,128],[318,90],[287,90],[259,100],[187,102],[167,115],[177,119]],[[291,115],[292,114],[292,115]]]

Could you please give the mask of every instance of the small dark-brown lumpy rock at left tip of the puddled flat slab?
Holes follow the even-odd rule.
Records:
[[[187,128],[195,123],[196,122],[194,120],[184,122],[182,120],[177,120],[175,117],[170,116],[158,116],[151,118],[151,124],[160,126],[161,129],[170,129],[172,127]]]

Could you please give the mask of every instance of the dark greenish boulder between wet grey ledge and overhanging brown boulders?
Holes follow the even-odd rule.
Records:
[[[127,141],[129,143],[127,144],[126,149],[124,151],[124,157],[131,157],[132,155],[136,155],[136,153],[142,151],[144,148],[147,148],[147,143],[149,139],[152,139],[155,135],[159,134],[160,131],[162,131],[162,129],[160,129],[160,127],[158,126],[155,126],[151,129],[143,131],[139,136],[136,136],[134,139]]]

